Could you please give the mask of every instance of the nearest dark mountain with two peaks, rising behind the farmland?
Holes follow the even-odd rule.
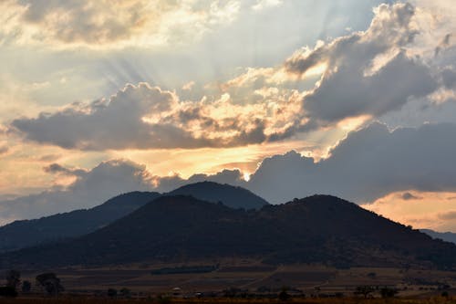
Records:
[[[0,256],[0,267],[119,265],[255,257],[336,267],[456,266],[456,246],[357,204],[315,195],[260,210],[161,196],[97,231]]]

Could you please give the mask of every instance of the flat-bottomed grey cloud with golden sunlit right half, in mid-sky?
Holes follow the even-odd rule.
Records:
[[[74,103],[11,126],[29,141],[67,149],[233,147],[288,137],[300,98],[292,92],[251,105],[235,104],[229,94],[213,101],[181,101],[171,91],[140,83],[109,100]]]

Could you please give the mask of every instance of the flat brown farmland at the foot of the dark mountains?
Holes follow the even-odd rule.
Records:
[[[318,265],[272,267],[253,260],[232,260],[212,264],[206,261],[191,265],[141,264],[51,271],[57,274],[66,289],[62,297],[71,295],[75,303],[78,297],[106,299],[109,288],[118,292],[128,290],[131,299],[156,299],[158,295],[163,295],[178,302],[223,302],[228,299],[226,297],[231,297],[230,303],[245,300],[274,302],[285,288],[293,301],[302,301],[306,297],[306,302],[317,303],[323,299],[330,302],[334,299],[341,303],[344,299],[351,303],[363,298],[358,295],[356,299],[351,299],[357,288],[362,286],[372,288],[368,295],[372,298],[380,298],[381,288],[393,288],[398,291],[400,299],[410,300],[408,303],[413,303],[412,299],[436,299],[442,294],[456,297],[456,273],[429,269],[337,269]],[[37,274],[39,272],[23,271],[22,279],[34,283]],[[34,284],[31,295],[40,298],[41,292]],[[194,299],[196,295],[200,299]],[[16,303],[24,297],[20,295]],[[222,297],[225,300],[220,299]]]

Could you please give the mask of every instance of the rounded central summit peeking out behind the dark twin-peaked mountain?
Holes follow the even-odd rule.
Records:
[[[247,189],[235,187],[227,183],[191,183],[181,186],[167,195],[192,195],[206,202],[222,202],[222,204],[234,209],[261,209],[264,205],[269,204],[263,198]]]

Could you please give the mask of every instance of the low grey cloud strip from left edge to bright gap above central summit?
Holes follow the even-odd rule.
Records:
[[[194,174],[188,179],[179,175],[156,176],[144,165],[128,160],[100,162],[90,170],[71,169],[57,163],[45,167],[45,172],[72,175],[76,179],[67,186],[55,186],[39,194],[31,194],[0,202],[0,225],[16,219],[90,208],[109,198],[131,191],[169,192],[187,183],[212,181],[242,185],[239,170],[223,170],[214,174]]]

